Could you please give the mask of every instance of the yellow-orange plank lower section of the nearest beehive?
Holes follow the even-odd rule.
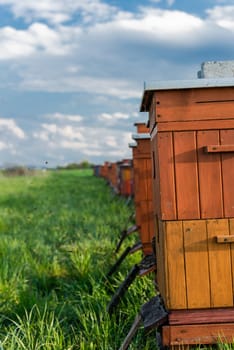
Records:
[[[157,284],[169,310],[233,307],[234,219],[159,221]]]

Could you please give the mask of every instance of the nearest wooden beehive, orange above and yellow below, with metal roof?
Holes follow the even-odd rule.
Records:
[[[149,112],[152,140],[157,282],[172,315],[164,344],[217,342],[220,332],[230,340],[234,80],[158,83],[145,89],[141,111]],[[192,310],[198,324],[184,326]]]

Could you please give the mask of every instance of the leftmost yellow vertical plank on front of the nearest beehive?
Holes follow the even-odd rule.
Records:
[[[169,309],[187,308],[182,221],[166,222],[165,228]],[[166,276],[165,276],[166,277]]]

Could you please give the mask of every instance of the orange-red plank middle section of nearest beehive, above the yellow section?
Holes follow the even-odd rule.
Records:
[[[234,130],[157,132],[152,140],[153,210],[161,220],[234,217]],[[158,203],[157,203],[158,201]]]

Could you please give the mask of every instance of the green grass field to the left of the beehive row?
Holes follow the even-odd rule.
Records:
[[[140,305],[154,293],[150,279],[137,279],[115,315],[105,311],[140,260],[139,253],[129,256],[106,280],[131,204],[90,170],[0,176],[0,192],[3,349],[118,349]],[[154,334],[145,338],[142,329],[130,347],[154,348]]]

